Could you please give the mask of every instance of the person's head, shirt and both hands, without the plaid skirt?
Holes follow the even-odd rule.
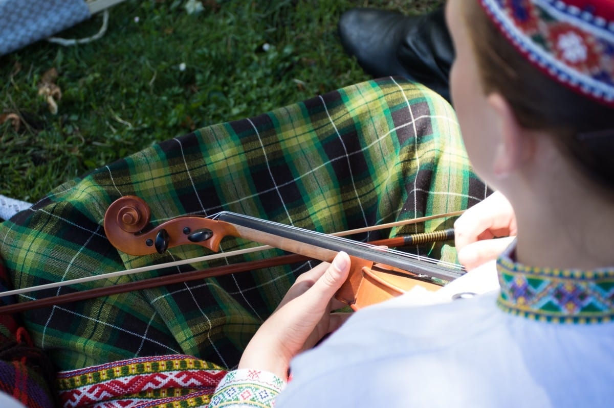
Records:
[[[446,17],[465,146],[498,191],[456,221],[457,249],[477,265],[500,253],[484,239],[516,235],[475,270],[500,290],[430,306],[410,292],[303,352],[340,326],[340,254],[262,325],[212,406],[262,391],[276,407],[612,404],[614,2],[449,0]]]

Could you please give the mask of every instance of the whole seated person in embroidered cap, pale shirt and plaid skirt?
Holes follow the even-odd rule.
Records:
[[[17,287],[192,255],[136,259],[109,246],[104,209],[136,194],[152,198],[161,214],[152,222],[229,209],[325,232],[471,207],[455,223],[458,257],[480,266],[435,294],[412,290],[349,319],[330,314],[348,274],[343,253],[330,266],[26,312],[34,346],[60,370],[64,406],[610,404],[614,6],[450,0],[447,18],[464,145],[445,101],[396,78],[372,81],[202,129],[61,186],[1,226],[0,252]],[[489,191],[464,147],[498,191],[478,204]],[[504,235],[516,238],[502,254],[499,240],[484,240]],[[499,290],[466,298],[493,277]],[[142,381],[161,376],[169,380]],[[137,379],[146,387],[108,387]]]

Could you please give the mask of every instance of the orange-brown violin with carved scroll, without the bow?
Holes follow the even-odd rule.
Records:
[[[354,310],[396,297],[414,286],[436,290],[441,284],[432,278],[452,281],[464,273],[461,269],[416,259],[416,255],[405,252],[228,211],[213,217],[179,216],[148,229],[150,215],[149,206],[141,198],[119,198],[104,216],[107,239],[130,255],[162,254],[185,244],[217,252],[225,236],[267,244],[324,262],[331,262],[338,252],[345,251],[351,259],[351,270],[335,297]]]

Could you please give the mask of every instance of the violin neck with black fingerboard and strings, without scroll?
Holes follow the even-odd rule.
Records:
[[[330,262],[337,252],[344,251],[353,257],[382,263],[419,276],[439,278],[445,281],[452,281],[464,273],[462,270],[451,270],[434,263],[418,260],[416,255],[412,256],[404,252],[391,251],[339,236],[326,235],[243,214],[222,211],[222,213],[217,214],[216,219],[233,224],[241,238],[325,262]]]

